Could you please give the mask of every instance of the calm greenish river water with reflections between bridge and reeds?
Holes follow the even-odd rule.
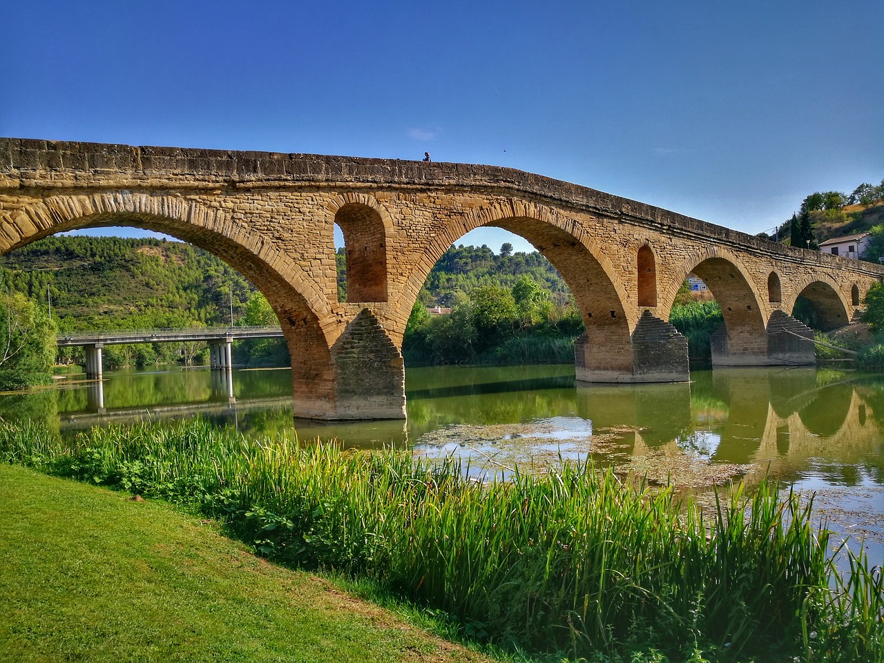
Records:
[[[702,492],[773,475],[816,492],[820,517],[884,560],[884,379],[815,369],[695,370],[683,385],[575,385],[573,366],[408,370],[408,421],[296,420],[288,370],[109,372],[0,395],[7,421],[62,434],[201,415],[247,435],[283,431],[347,446],[469,461],[477,476],[591,460]]]

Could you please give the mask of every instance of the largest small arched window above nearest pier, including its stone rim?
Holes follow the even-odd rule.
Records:
[[[347,255],[347,301],[387,301],[387,238],[392,222],[377,200],[345,194],[331,206],[344,235]]]

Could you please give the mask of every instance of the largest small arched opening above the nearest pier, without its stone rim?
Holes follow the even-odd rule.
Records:
[[[386,235],[380,214],[351,202],[337,211],[334,222],[344,244],[335,252],[339,301],[387,301]]]

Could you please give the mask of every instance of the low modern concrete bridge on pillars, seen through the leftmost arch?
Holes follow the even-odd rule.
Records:
[[[212,370],[232,368],[232,341],[281,339],[282,327],[189,327],[118,331],[67,331],[58,335],[58,347],[86,348],[86,377],[102,377],[102,348],[124,343],[186,343],[208,341]]]

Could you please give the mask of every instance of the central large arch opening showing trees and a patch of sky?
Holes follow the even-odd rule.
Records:
[[[514,250],[525,242],[511,233],[493,236],[497,251],[461,242],[432,265],[403,339],[407,366],[574,361],[583,320],[559,271],[530,244]]]

